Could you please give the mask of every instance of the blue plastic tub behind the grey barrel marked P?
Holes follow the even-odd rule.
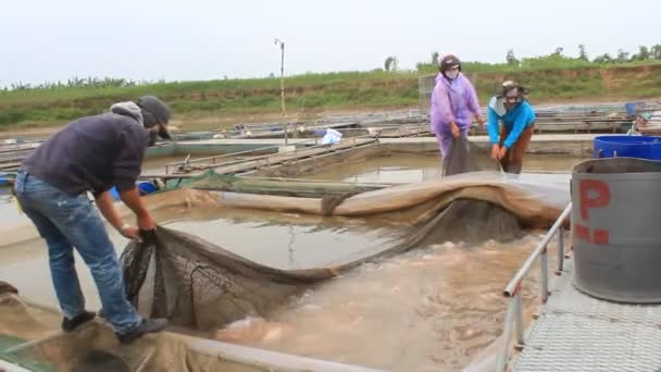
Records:
[[[661,160],[659,136],[599,136],[595,138],[593,158],[639,158]]]

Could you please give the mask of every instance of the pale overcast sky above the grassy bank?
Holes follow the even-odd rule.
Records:
[[[661,44],[661,1],[21,0],[0,11],[0,86],[72,76],[189,80],[503,61],[564,47],[591,57]]]

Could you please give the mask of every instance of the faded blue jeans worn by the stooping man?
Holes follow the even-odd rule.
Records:
[[[14,189],[23,211],[48,245],[50,273],[64,317],[72,319],[85,311],[74,265],[75,247],[91,271],[104,317],[115,332],[137,327],[141,318],[126,299],[114,246],[87,196],[71,196],[24,172],[18,172]]]

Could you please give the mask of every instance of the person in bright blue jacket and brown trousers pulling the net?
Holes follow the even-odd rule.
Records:
[[[504,82],[487,110],[491,158],[509,173],[521,173],[523,154],[535,132],[535,111],[524,96],[521,85]]]

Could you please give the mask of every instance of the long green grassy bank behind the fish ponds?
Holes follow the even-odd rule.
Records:
[[[482,102],[503,79],[516,79],[531,91],[533,103],[661,97],[661,61],[601,65],[571,59],[524,60],[517,66],[465,63],[475,74]],[[421,64],[414,72],[340,72],[286,78],[289,114],[313,115],[322,110],[373,110],[414,107],[417,78],[435,73]],[[116,80],[79,86],[53,85],[0,90],[0,128],[59,126],[108,110],[111,103],[152,94],[169,102],[179,123],[200,117],[265,115],[279,112],[279,79],[222,79],[123,86]]]

